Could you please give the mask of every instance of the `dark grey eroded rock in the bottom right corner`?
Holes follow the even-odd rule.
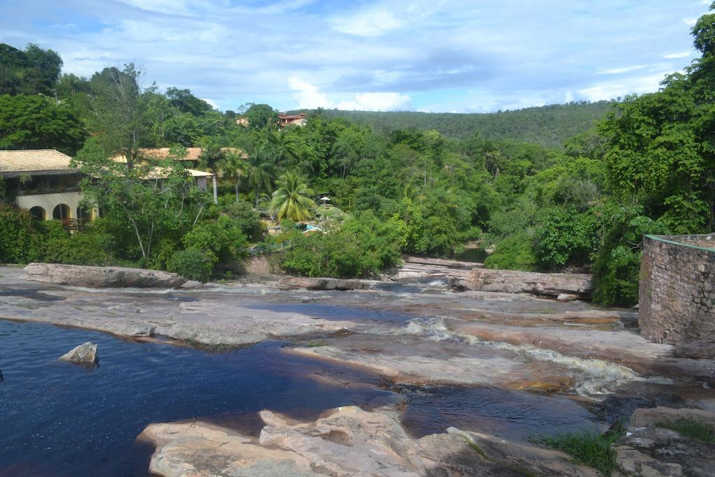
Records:
[[[699,409],[638,409],[626,434],[613,446],[616,462],[629,476],[712,476],[715,443],[700,441],[663,427],[689,419],[715,423],[715,413]]]

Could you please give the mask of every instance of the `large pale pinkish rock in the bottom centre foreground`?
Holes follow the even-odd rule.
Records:
[[[157,446],[149,471],[165,477],[523,476],[516,466],[548,476],[597,475],[556,451],[513,446],[501,453],[503,445],[495,443],[497,451],[487,455],[478,447],[482,441],[458,430],[411,438],[391,410],[346,406],[311,423],[267,410],[260,417],[266,426],[259,438],[201,422],[152,424],[139,436]]]

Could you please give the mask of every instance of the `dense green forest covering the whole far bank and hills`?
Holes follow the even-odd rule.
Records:
[[[0,261],[207,280],[240,273],[248,247],[290,243],[275,255],[288,272],[370,276],[402,253],[445,256],[481,240],[495,247],[489,267],[590,270],[594,300],[632,305],[644,233],[715,229],[714,31],[715,14],[702,16],[692,29],[701,57],[659,92],[622,102],[484,115],[318,110],[285,129],[266,104],[221,113],[187,89],[142,87],[133,64],[80,78],[59,74],[54,51],[2,45],[0,147],[72,154],[102,218],[69,235],[2,206]],[[177,161],[196,146],[198,167],[220,174],[217,204]],[[152,162],[140,147],[172,154]],[[157,167],[162,180],[147,179]],[[332,206],[316,205],[323,195]],[[306,221],[325,233],[293,224]],[[267,235],[277,222],[282,232]]]

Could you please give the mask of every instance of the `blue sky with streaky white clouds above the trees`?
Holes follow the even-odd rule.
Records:
[[[0,43],[218,109],[493,112],[654,92],[709,0],[0,0]]]

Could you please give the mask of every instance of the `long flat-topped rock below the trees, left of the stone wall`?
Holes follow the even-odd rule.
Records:
[[[483,292],[533,293],[535,295],[591,296],[593,282],[586,273],[536,273],[473,268],[464,284]]]

